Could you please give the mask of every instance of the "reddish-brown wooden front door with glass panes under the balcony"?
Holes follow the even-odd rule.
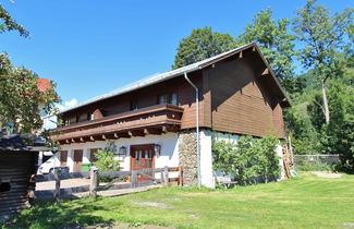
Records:
[[[155,167],[154,144],[131,146],[131,168],[132,170],[152,169]],[[138,176],[138,181],[148,180]]]

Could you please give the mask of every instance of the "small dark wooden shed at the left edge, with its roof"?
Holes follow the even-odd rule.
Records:
[[[0,220],[29,207],[38,153],[45,142],[17,134],[0,137]]]

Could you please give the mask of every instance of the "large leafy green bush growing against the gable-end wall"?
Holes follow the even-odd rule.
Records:
[[[237,142],[213,137],[213,169],[231,174],[241,184],[276,180],[280,176],[278,143],[276,136],[242,136]]]

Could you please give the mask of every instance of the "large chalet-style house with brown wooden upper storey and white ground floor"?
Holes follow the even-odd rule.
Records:
[[[248,44],[66,109],[52,138],[71,171],[94,162],[110,140],[122,170],[182,166],[186,184],[213,186],[212,133],[283,138],[289,106],[259,48]]]

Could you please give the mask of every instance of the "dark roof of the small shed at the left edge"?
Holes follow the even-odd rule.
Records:
[[[11,134],[0,137],[0,150],[40,152],[48,150],[45,141],[27,135]]]

